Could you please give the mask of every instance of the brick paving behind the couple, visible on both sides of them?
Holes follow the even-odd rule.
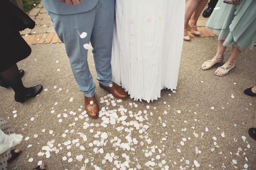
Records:
[[[35,44],[59,44],[62,43],[56,34],[53,23],[46,10],[43,8],[42,2],[33,8],[28,16],[36,22],[36,26],[33,29],[26,28],[21,31],[21,36],[28,43],[28,45]],[[215,37],[215,34],[207,29],[205,26],[198,26],[198,30],[201,34],[198,37]],[[188,31],[190,37],[196,37]]]

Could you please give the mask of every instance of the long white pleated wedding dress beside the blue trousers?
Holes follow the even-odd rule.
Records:
[[[157,100],[176,89],[185,0],[116,0],[113,82],[134,100]]]

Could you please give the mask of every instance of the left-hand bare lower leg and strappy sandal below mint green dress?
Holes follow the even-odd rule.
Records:
[[[224,42],[224,41],[225,41],[225,40],[218,40],[217,53],[215,54],[215,56],[216,56],[217,58],[221,58],[221,57],[223,56],[224,52],[225,52],[225,49],[227,48],[227,47],[223,46],[223,42]],[[208,66],[208,65],[209,65],[209,62],[211,62],[210,65],[209,65],[209,68],[211,68],[214,64],[217,64],[217,63],[221,63],[221,62],[222,62],[222,61],[217,61],[217,59],[214,58],[214,57],[211,58],[211,60],[213,60],[213,61],[205,61],[205,62],[202,64],[202,68],[203,68],[204,70],[207,69],[206,65]],[[214,62],[214,61],[216,61],[216,62]]]

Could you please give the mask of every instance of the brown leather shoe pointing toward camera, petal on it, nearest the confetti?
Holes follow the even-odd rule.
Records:
[[[95,95],[91,98],[85,96],[85,110],[92,119],[97,119],[99,117],[99,107]]]

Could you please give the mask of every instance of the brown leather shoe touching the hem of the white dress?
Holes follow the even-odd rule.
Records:
[[[100,84],[100,83],[99,83]],[[110,93],[112,93],[116,98],[125,100],[128,98],[126,91],[123,90],[119,85],[113,82],[113,86],[103,86],[100,84],[100,87],[107,89]]]

